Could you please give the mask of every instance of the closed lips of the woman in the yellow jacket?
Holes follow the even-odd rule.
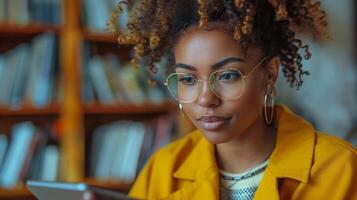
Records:
[[[214,131],[223,127],[225,124],[228,123],[230,119],[231,117],[227,118],[227,117],[210,115],[210,116],[202,116],[198,118],[197,121],[203,129],[207,131]]]

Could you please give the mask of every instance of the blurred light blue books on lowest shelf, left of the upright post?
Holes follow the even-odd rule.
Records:
[[[14,188],[27,179],[56,181],[59,149],[49,143],[55,138],[54,132],[29,121],[0,134],[0,187]]]

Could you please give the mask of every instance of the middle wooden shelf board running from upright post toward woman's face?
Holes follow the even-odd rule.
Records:
[[[113,106],[91,104],[84,108],[86,115],[107,115],[107,114],[161,114],[172,112],[177,109],[177,105],[172,102],[162,104],[146,103],[142,105],[119,104]]]

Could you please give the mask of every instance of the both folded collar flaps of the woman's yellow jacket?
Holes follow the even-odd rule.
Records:
[[[277,178],[307,182],[315,144],[314,128],[287,107],[275,106],[277,139],[267,169]],[[174,172],[174,177],[197,180],[218,177],[214,146],[198,130],[193,133],[196,146]],[[298,160],[297,160],[298,159]]]

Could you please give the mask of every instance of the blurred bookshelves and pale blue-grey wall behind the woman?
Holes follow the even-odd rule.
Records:
[[[0,199],[33,199],[29,179],[127,192],[158,148],[193,127],[163,86],[130,64],[105,24],[117,0],[0,0]],[[331,39],[310,46],[300,90],[276,102],[357,147],[357,5],[322,0]],[[125,31],[127,9],[118,20]]]

